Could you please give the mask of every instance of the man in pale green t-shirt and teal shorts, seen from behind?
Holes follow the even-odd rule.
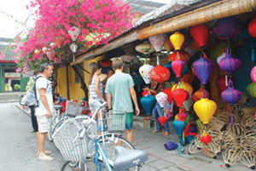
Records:
[[[137,95],[134,90],[134,82],[131,75],[123,73],[124,63],[122,60],[113,60],[113,70],[115,73],[109,77],[105,93],[108,97],[108,110],[126,111],[125,127],[127,129],[126,139],[132,142],[133,134],[133,107],[131,99],[135,105],[136,115],[140,114],[137,105]]]

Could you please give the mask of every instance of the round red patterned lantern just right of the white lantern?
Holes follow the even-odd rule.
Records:
[[[157,83],[164,83],[171,77],[171,72],[165,66],[155,66],[150,71],[150,79]]]

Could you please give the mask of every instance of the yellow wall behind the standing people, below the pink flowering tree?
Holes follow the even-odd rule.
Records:
[[[84,69],[90,72],[89,65],[91,62],[102,60],[104,56],[97,57],[93,60],[84,61]],[[84,71],[84,83],[88,88],[90,75]],[[75,71],[71,66],[68,66],[68,80],[69,80],[69,96],[70,100],[82,100],[84,98],[84,91],[80,83],[75,83]],[[67,97],[67,82],[66,82],[66,67],[58,68],[57,70],[57,92]]]

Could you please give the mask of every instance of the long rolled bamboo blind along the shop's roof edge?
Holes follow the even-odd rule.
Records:
[[[129,34],[121,36],[106,45],[82,54],[75,60],[75,62],[72,62],[71,65],[73,66],[84,60],[89,60],[99,54],[124,46],[127,43],[143,40],[158,34],[177,31],[189,26],[206,23],[211,20],[218,20],[236,14],[252,12],[254,9],[256,9],[256,0],[224,0],[218,3],[212,3],[211,5],[160,21],[153,26],[148,26],[138,31],[131,31]]]

